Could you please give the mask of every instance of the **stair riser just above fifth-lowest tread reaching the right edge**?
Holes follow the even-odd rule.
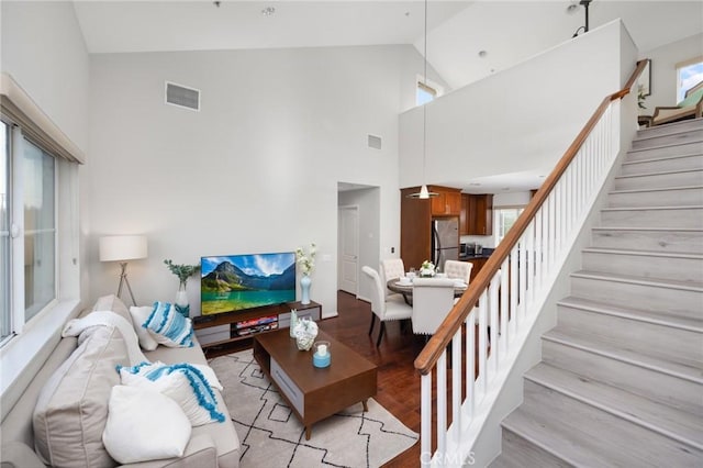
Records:
[[[591,243],[603,248],[703,254],[703,232],[599,229],[591,233]]]

